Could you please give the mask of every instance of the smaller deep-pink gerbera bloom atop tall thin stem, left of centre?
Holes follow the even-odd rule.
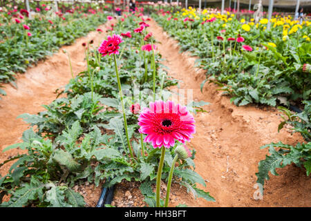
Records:
[[[106,40],[102,41],[102,44],[100,45],[100,48],[98,48],[98,51],[102,54],[102,57],[106,55],[119,55],[119,44],[123,42],[122,37],[120,35],[108,36]]]

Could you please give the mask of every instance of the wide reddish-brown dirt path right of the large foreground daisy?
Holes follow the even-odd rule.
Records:
[[[277,170],[279,176],[271,176],[265,184],[263,200],[254,200],[254,184],[258,162],[265,158],[267,149],[260,149],[270,142],[296,144],[302,142],[300,135],[286,130],[277,132],[281,122],[276,108],[256,106],[237,107],[230,104],[229,97],[221,95],[214,84],[200,84],[205,79],[204,70],[194,68],[195,58],[180,54],[177,41],[168,37],[155,21],[149,22],[157,41],[158,50],[169,67],[169,75],[179,79],[181,89],[193,89],[194,100],[204,100],[207,113],[198,113],[196,134],[189,146],[196,149],[196,172],[207,182],[205,191],[216,202],[194,200],[185,189],[178,191],[178,203],[188,206],[311,206],[311,179],[296,166]],[[202,186],[200,186],[202,187]],[[178,204],[173,203],[171,206]]]

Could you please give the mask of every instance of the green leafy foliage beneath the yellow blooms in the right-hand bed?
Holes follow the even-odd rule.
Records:
[[[206,82],[218,84],[237,106],[282,103],[288,106],[289,102],[310,100],[310,73],[303,72],[303,64],[311,62],[308,50],[311,44],[303,38],[308,36],[310,26],[301,26],[296,35],[289,35],[289,39],[283,41],[282,26],[273,27],[270,32],[263,31],[263,25],[251,26],[246,32],[236,18],[228,21],[216,15],[216,21],[200,24],[207,15],[196,15],[199,19],[184,22],[189,15],[182,14],[153,14],[152,17],[178,40],[181,51],[198,57],[196,66],[206,70],[207,76],[200,85],[201,91]],[[223,29],[225,33],[220,32]],[[237,35],[245,41],[227,41]],[[218,41],[217,36],[222,36],[224,41]],[[270,42],[276,44],[276,48],[270,46]],[[251,46],[252,52],[243,50],[242,45]]]

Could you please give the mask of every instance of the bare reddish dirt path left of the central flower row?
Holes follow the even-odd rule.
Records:
[[[110,22],[98,27],[106,30]],[[17,76],[18,88],[4,85],[7,95],[0,100],[0,162],[20,153],[14,149],[2,153],[3,148],[11,144],[21,142],[20,137],[28,128],[28,124],[17,116],[22,113],[35,114],[44,111],[42,104],[50,104],[56,98],[55,90],[68,84],[71,74],[68,57],[62,52],[66,49],[70,54],[73,73],[86,69],[84,61],[84,47],[82,43],[94,40],[94,46],[98,46],[105,37],[105,32],[93,31],[86,37],[76,39],[71,46],[64,46],[46,61],[40,61],[37,66],[28,68],[27,72]],[[9,164],[1,167],[0,174],[8,172]]]

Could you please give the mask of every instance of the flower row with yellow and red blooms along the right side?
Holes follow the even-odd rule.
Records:
[[[235,19],[234,14],[199,15],[195,9],[183,9],[171,15],[160,10],[153,17],[169,35],[175,37],[182,50],[198,57],[198,66],[206,70],[204,84],[214,82],[237,106],[264,104],[279,106],[283,122],[300,133],[305,142],[296,146],[271,143],[270,155],[259,162],[256,173],[259,184],[269,180],[269,172],[289,164],[304,167],[311,173],[311,43],[310,21],[292,21],[290,17],[272,18],[254,23]],[[292,113],[284,106],[296,104],[301,113]],[[261,189],[263,191],[263,189]]]

